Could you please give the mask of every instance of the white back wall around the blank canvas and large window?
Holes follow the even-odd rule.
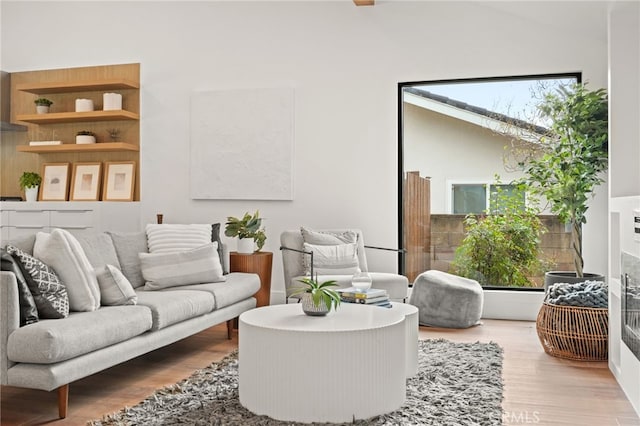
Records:
[[[141,63],[143,222],[160,212],[166,222],[209,222],[260,209],[276,292],[284,229],[358,226],[369,244],[397,246],[398,82],[571,71],[594,87],[607,79],[599,2],[4,0],[0,8],[6,71]],[[190,200],[190,94],[257,87],[296,92],[294,201]],[[605,237],[606,198],[595,223]],[[587,253],[587,269],[604,270],[596,263],[606,265],[606,238],[594,246],[585,234],[596,253]],[[368,257],[372,268],[396,269],[395,254]]]

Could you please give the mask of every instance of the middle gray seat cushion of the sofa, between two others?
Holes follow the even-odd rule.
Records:
[[[138,305],[151,309],[152,330],[204,315],[215,307],[213,295],[203,291],[163,292],[137,289],[136,295]]]

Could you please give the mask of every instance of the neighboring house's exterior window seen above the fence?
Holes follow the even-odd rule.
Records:
[[[487,191],[489,188],[489,191]],[[498,204],[498,194],[515,199],[521,208],[525,207],[524,191],[514,185],[489,183],[454,183],[451,184],[451,200],[453,214],[501,213],[504,206]]]

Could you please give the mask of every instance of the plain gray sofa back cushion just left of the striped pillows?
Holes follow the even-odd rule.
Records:
[[[148,253],[147,234],[140,232],[107,232],[118,255],[120,270],[133,288],[142,287],[144,278],[140,269],[138,253]]]

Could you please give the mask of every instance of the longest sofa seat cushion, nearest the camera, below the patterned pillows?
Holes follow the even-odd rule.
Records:
[[[151,328],[144,306],[107,306],[72,312],[63,320],[41,320],[9,335],[7,355],[14,362],[52,364],[128,340]]]

